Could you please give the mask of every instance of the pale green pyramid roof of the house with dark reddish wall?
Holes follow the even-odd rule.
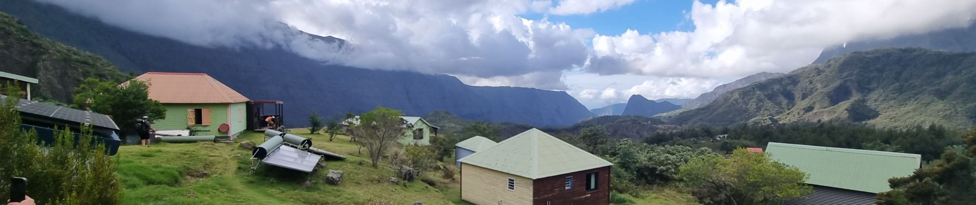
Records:
[[[536,128],[460,161],[533,180],[613,165]]]

